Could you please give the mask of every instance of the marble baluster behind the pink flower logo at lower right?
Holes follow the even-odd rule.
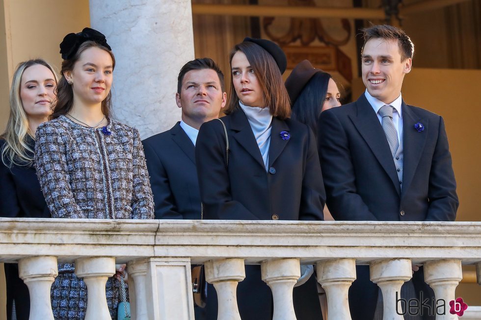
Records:
[[[424,279],[434,290],[434,296],[436,297],[436,310],[434,310],[436,320],[458,319],[456,315],[450,314],[449,302],[455,299],[455,290],[462,278],[461,260],[433,260],[424,264]],[[438,301],[443,300],[445,304],[444,315],[441,314],[441,308],[438,308],[441,305],[441,303],[438,304]]]

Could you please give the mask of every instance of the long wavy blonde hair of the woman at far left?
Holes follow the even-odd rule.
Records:
[[[22,76],[27,68],[34,65],[42,65],[52,71],[57,82],[57,74],[53,67],[43,59],[32,59],[18,64],[13,74],[12,87],[10,89],[10,116],[5,131],[0,138],[5,140],[1,149],[1,161],[5,166],[11,168],[12,165],[30,166],[33,163],[33,150],[27,144],[27,135],[32,138],[35,132],[30,132],[28,126],[27,113],[25,113],[20,98],[20,86]]]

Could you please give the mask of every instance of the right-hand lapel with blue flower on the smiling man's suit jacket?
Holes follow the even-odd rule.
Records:
[[[429,132],[428,119],[419,118],[413,108],[402,101],[402,144],[403,144],[403,163],[402,163],[402,194],[408,190],[418,167],[421,154],[426,144]],[[415,123],[423,123],[424,131],[418,132],[414,128]]]

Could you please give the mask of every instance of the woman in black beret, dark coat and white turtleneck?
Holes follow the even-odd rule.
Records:
[[[245,38],[231,51],[230,65],[231,97],[221,118],[228,154],[218,120],[201,126],[195,148],[204,219],[323,220],[316,138],[307,125],[289,119],[284,52],[268,40]],[[272,319],[272,295],[260,266],[245,270],[238,286],[240,317]],[[208,319],[217,319],[216,300],[210,286]]]

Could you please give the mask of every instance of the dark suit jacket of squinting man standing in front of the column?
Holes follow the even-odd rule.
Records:
[[[176,123],[170,130],[142,141],[156,219],[200,219],[195,147]]]

